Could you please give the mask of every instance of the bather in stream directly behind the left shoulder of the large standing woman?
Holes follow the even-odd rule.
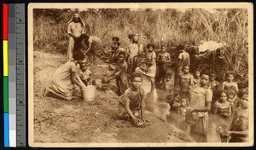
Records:
[[[183,95],[189,95],[189,85],[194,85],[193,75],[189,73],[189,66],[183,66],[183,73],[179,77],[179,87]]]

